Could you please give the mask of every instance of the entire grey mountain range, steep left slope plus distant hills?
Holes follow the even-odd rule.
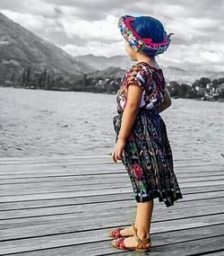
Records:
[[[136,62],[126,56],[101,57],[85,55],[72,57],[55,44],[48,42],[13,22],[0,13],[0,82],[10,79],[12,73],[22,73],[24,68],[47,68],[54,75],[75,79],[83,74],[107,78],[122,77]],[[193,83],[202,76],[211,79],[223,77],[224,72],[194,72],[176,66],[163,67],[166,81]]]

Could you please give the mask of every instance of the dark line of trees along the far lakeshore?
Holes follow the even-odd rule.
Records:
[[[102,73],[103,74],[103,73]],[[56,91],[75,91],[93,93],[116,93],[119,89],[121,78],[113,75],[55,75],[47,68],[32,70],[28,66],[22,74],[13,72],[11,81],[4,83],[6,86],[44,89]],[[117,76],[117,75],[116,75]],[[224,98],[224,77],[211,80],[208,77],[196,79],[193,84],[179,84],[176,81],[167,83],[167,88],[172,97],[200,98],[209,95],[213,98]]]

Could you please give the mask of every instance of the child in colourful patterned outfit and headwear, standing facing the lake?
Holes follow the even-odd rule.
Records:
[[[155,56],[168,49],[171,34],[150,16],[122,16],[118,27],[125,38],[128,56],[137,61],[121,81],[116,93],[116,146],[114,162],[121,160],[132,182],[137,201],[135,222],[109,235],[113,246],[148,252],[151,247],[153,199],[166,207],[183,199],[173,170],[166,125],[159,112],[171,105],[162,70]]]

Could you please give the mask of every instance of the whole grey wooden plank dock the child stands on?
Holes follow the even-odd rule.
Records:
[[[154,199],[143,254],[224,255],[224,163],[174,164],[184,199]],[[133,255],[112,247],[108,230],[131,225],[135,210],[125,167],[109,155],[0,158],[0,255]]]

